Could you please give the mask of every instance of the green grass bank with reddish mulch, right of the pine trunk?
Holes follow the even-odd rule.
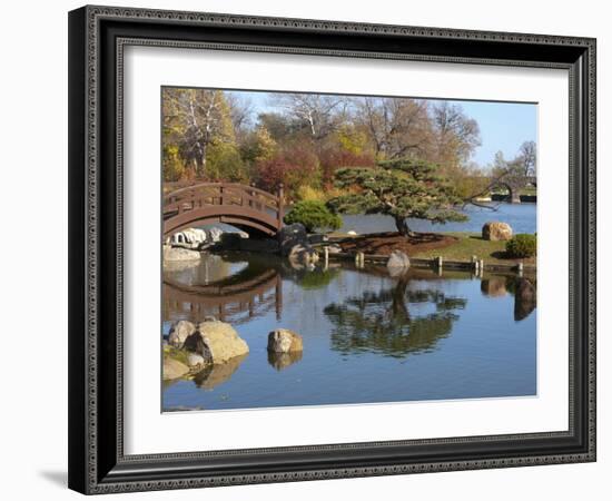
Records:
[[[484,259],[485,263],[491,264],[535,264],[535,257],[526,259],[511,259],[505,257],[505,242],[483,240],[481,235],[476,233],[447,233],[446,235],[453,235],[457,237],[458,240],[446,247],[416,252],[413,256],[426,258],[442,256],[444,259],[448,261],[470,261],[472,256],[477,256],[478,259]]]

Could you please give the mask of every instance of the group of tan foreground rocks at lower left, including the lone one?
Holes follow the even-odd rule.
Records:
[[[211,316],[198,324],[176,322],[170,327],[168,347],[171,350],[164,351],[164,379],[176,380],[196,374],[196,383],[203,387],[213,387],[211,374],[215,381],[228,379],[249,352],[247,343],[231,325]],[[302,354],[303,348],[302,336],[293,331],[278,328],[268,334],[268,353],[273,358],[276,355]],[[279,361],[278,364],[286,366],[287,361]]]

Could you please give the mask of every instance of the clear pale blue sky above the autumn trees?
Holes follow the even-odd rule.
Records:
[[[236,96],[248,98],[254,106],[255,117],[259,112],[275,111],[269,94],[264,91],[233,91]],[[431,99],[440,102],[440,99]],[[497,151],[512,159],[526,140],[537,141],[537,105],[531,102],[496,102],[453,100],[465,115],[478,122],[482,145],[477,147],[472,160],[481,167],[493,163]]]

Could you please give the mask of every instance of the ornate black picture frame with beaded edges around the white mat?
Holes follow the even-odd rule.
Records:
[[[570,428],[126,455],[122,53],[129,45],[561,68],[570,75]],[[69,14],[69,487],[93,494],[595,460],[595,40],[83,7]]]

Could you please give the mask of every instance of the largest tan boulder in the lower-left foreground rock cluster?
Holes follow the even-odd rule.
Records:
[[[190,335],[185,347],[199,353],[206,363],[225,364],[235,356],[248,353],[245,340],[236,330],[225,322],[201,322],[198,330]]]

